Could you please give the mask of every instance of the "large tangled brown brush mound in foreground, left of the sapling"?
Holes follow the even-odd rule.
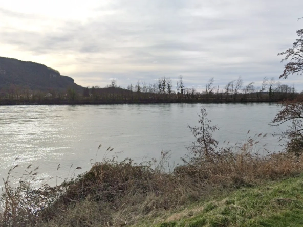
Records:
[[[162,161],[167,154],[162,152]],[[92,215],[96,209],[102,214],[97,217],[99,224],[119,226],[199,199],[203,194],[200,182],[192,182],[189,176],[179,177],[165,172],[162,161],[156,168],[152,168],[153,162],[136,164],[128,158],[122,162],[103,160],[96,163],[73,184],[68,184],[66,193],[39,218],[42,222],[55,220],[55,223],[50,221],[50,225],[70,225],[70,221],[74,223],[75,220],[67,218],[62,210],[79,209],[79,202],[83,205],[91,203]],[[77,222],[80,226],[84,222],[94,226],[96,222],[95,219],[80,219]]]

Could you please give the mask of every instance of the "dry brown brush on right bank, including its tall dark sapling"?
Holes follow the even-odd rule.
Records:
[[[187,165],[177,167],[175,172],[204,179],[204,184],[213,187],[238,188],[250,186],[259,180],[276,179],[302,171],[301,157],[295,154],[261,155],[256,152],[256,145],[267,134],[259,133],[233,147],[219,149],[218,141],[212,137],[212,132],[219,128],[210,125],[205,108],[201,109],[198,116],[201,126],[188,126],[196,138],[188,148],[194,156],[189,158]]]

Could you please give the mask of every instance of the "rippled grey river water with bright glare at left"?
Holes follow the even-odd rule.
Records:
[[[197,113],[205,106],[209,119],[220,128],[214,136],[231,144],[256,133],[268,133],[260,144],[267,149],[281,149],[278,132],[268,123],[279,107],[276,104],[148,104],[148,105],[79,105],[79,106],[0,106],[0,177],[7,172],[16,157],[14,176],[19,176],[32,164],[40,166],[37,178],[67,177],[88,170],[90,160],[100,161],[107,147],[123,151],[120,158],[141,161],[144,156],[159,157],[161,150],[171,150],[171,159],[180,162],[186,146],[194,141],[188,125],[198,125]],[[259,145],[258,152],[264,152]],[[109,156],[113,155],[112,152]],[[92,161],[92,162],[93,162]],[[59,182],[60,180],[58,180]],[[37,181],[40,183],[40,181]]]

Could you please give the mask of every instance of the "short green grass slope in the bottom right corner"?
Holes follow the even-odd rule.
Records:
[[[303,226],[303,175],[241,188],[224,199],[166,215],[153,226]]]

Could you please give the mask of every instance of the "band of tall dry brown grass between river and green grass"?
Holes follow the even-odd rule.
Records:
[[[2,194],[1,226],[123,226],[142,217],[207,199],[222,191],[250,187],[303,171],[303,158],[290,153],[252,153],[249,140],[238,150],[222,148],[211,156],[167,171],[168,152],[159,161],[102,160],[60,186],[33,189],[28,181]],[[155,166],[156,165],[156,166]]]

